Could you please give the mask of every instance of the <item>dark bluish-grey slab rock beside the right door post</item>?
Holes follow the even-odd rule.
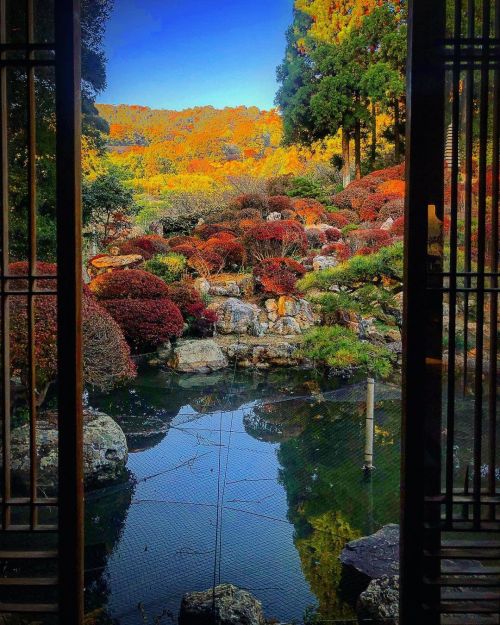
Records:
[[[352,587],[364,590],[384,575],[399,574],[399,525],[386,525],[377,533],[347,543],[340,561]]]

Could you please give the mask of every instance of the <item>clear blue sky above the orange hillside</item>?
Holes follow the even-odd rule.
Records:
[[[115,0],[98,101],[273,106],[293,0]]]

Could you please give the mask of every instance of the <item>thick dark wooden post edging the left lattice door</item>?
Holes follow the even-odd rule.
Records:
[[[61,623],[83,622],[80,3],[56,0]]]

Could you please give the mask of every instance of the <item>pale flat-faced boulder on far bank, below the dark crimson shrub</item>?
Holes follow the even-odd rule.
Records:
[[[168,362],[181,373],[211,373],[228,366],[227,358],[215,341],[179,341]]]

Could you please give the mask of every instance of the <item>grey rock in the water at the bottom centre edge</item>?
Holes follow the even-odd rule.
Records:
[[[246,590],[232,584],[184,595],[179,625],[265,625],[262,604]]]

